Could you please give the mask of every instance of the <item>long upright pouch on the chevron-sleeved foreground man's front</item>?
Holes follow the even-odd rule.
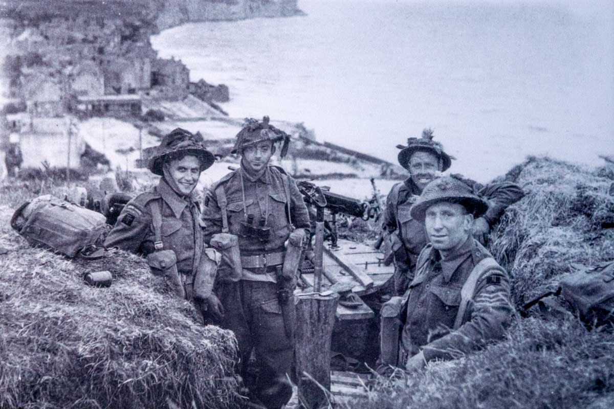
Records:
[[[405,362],[398,362],[401,333],[403,330],[403,310],[406,307],[406,297],[392,297],[382,305],[379,313],[379,349],[381,364],[398,366]]]

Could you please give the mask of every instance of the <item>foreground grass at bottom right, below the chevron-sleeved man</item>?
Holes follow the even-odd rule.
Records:
[[[424,372],[379,378],[344,409],[612,408],[612,334],[575,319],[516,321],[507,340]]]

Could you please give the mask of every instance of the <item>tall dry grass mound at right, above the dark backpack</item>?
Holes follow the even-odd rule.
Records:
[[[612,180],[549,158],[529,158],[508,180],[527,196],[511,206],[492,234],[491,251],[513,276],[521,305],[570,272],[570,263],[614,259]]]

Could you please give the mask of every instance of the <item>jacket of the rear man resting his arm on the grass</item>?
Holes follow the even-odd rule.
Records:
[[[472,186],[478,196],[488,201],[488,212],[483,217],[491,227],[499,221],[509,205],[518,202],[524,196],[523,189],[515,183],[492,183],[482,188],[479,183],[472,180],[461,180]],[[410,280],[418,254],[429,243],[424,222],[413,220],[410,214],[411,206],[418,200],[421,193],[422,190],[411,178],[399,182],[392,186],[384,211],[383,227],[389,232],[397,231],[403,243],[401,251],[395,252],[395,266],[410,275]]]

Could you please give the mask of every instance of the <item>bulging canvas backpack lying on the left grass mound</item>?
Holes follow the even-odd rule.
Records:
[[[107,232],[106,218],[100,213],[49,194],[18,207],[10,225],[33,245],[70,258],[102,245]]]

